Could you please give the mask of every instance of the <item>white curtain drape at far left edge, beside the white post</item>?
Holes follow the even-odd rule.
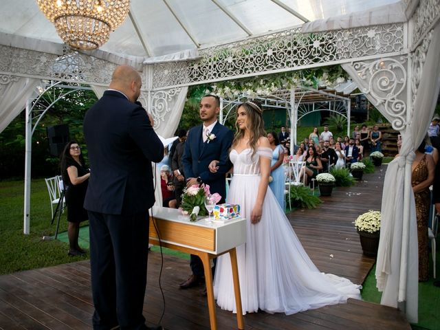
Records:
[[[40,80],[0,74],[0,133],[25,109]]]

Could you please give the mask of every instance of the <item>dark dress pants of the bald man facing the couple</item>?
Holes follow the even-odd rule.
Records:
[[[148,211],[89,211],[94,329],[146,329],[142,315],[148,259]]]

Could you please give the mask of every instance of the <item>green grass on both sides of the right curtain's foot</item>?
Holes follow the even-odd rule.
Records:
[[[437,270],[440,265],[440,253],[437,251]],[[362,285],[361,295],[362,299],[371,303],[380,304],[382,293],[377,291],[376,266],[370,271]],[[437,272],[437,280],[439,280],[439,273]],[[432,278],[432,256],[430,256],[430,280],[419,283],[419,322],[411,325],[415,330],[439,330],[440,329],[440,287],[434,287],[434,279]]]

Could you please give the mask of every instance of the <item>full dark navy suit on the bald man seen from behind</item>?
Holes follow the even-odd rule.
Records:
[[[91,176],[89,211],[94,329],[146,329],[142,316],[153,170],[164,148],[145,109],[118,91],[104,95],[84,120]]]

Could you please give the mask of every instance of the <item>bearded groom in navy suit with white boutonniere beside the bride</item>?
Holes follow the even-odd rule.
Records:
[[[217,192],[221,195],[219,203],[224,203],[225,174],[232,167],[229,149],[234,134],[217,121],[219,112],[220,99],[217,96],[207,95],[201,99],[199,115],[203,124],[190,129],[182,163],[187,187],[195,184],[208,184],[212,194]],[[211,173],[208,169],[212,160],[219,160],[217,173]],[[198,256],[191,254],[190,267],[192,275],[180,284],[181,289],[195,287],[203,281],[203,263]]]

